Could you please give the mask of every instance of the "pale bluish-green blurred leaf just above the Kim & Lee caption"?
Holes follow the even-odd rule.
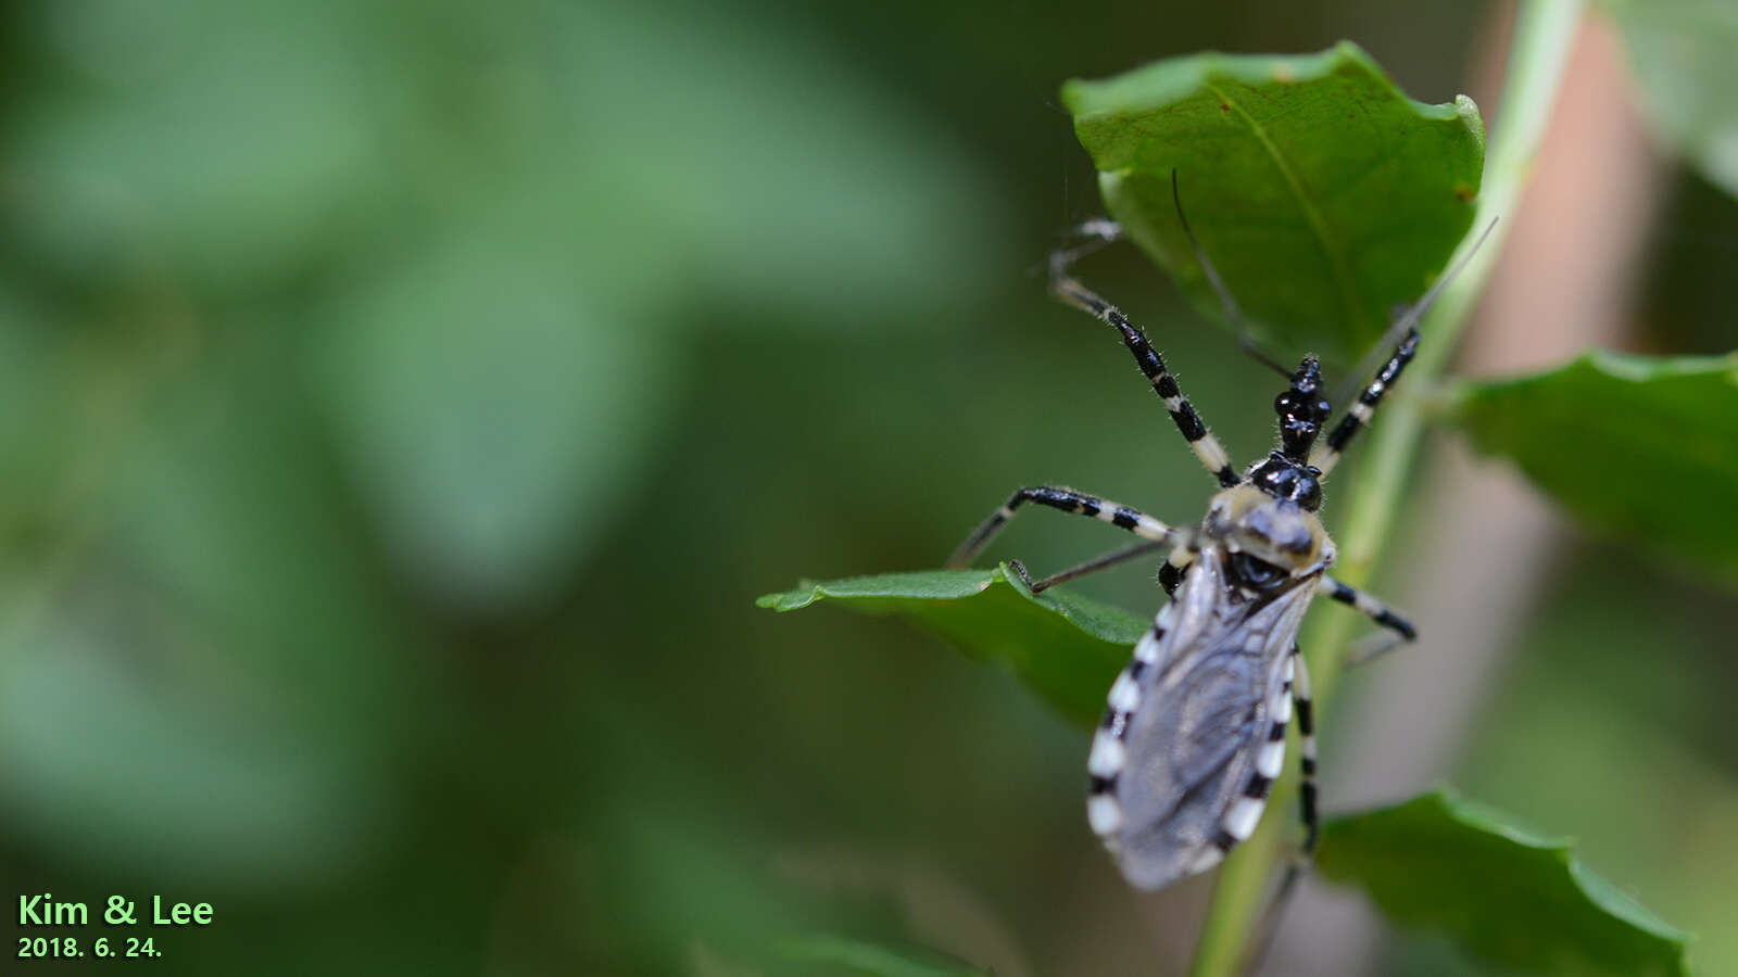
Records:
[[[143,675],[139,629],[162,624],[129,612],[115,581],[82,589],[28,645],[0,648],[9,841],[99,874],[238,892],[330,883],[384,840],[377,758],[344,756],[269,688]],[[224,701],[236,692],[247,701]]]

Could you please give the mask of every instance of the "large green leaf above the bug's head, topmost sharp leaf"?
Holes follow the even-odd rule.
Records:
[[[1251,320],[1286,349],[1361,356],[1472,224],[1484,125],[1472,99],[1408,99],[1342,42],[1309,56],[1196,54],[1062,101],[1128,236],[1206,315],[1220,304],[1171,202]]]

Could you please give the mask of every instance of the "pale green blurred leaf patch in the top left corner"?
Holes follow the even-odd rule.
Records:
[[[63,271],[276,282],[393,186],[344,5],[73,0],[31,24],[76,83],[30,92],[9,216]]]

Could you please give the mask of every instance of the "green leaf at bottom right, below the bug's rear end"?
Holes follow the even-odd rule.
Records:
[[[1316,867],[1406,927],[1528,974],[1681,975],[1689,935],[1594,874],[1569,841],[1439,788],[1324,824]]]

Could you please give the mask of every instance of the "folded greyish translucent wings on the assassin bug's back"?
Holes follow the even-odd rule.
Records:
[[[1255,829],[1284,756],[1291,645],[1314,591],[1307,579],[1246,598],[1206,549],[1161,612],[1166,633],[1140,676],[1116,784],[1114,847],[1137,888],[1204,871]]]

